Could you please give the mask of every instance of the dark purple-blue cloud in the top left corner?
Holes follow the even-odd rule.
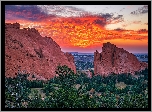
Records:
[[[11,19],[11,17],[37,21],[46,18],[47,15],[42,12],[36,5],[6,5],[5,18]]]

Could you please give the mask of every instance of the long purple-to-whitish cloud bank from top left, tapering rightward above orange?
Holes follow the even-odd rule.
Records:
[[[90,15],[88,12],[73,6],[62,5],[6,5],[6,19],[42,20],[53,17]]]

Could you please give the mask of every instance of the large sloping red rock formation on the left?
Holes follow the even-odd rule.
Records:
[[[34,28],[20,29],[20,24],[5,24],[5,75],[14,77],[25,70],[39,79],[54,77],[56,67],[67,65],[76,72],[74,57],[64,54],[50,37],[42,37]]]

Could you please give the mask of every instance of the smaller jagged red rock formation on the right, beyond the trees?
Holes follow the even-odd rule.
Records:
[[[104,43],[102,52],[94,53],[94,73],[107,76],[111,73],[131,73],[148,68],[148,64],[138,61],[136,56],[110,42]]]

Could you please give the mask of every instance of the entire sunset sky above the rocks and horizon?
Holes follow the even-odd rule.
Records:
[[[63,52],[93,53],[110,42],[148,53],[147,5],[6,5],[5,23],[36,28]]]

